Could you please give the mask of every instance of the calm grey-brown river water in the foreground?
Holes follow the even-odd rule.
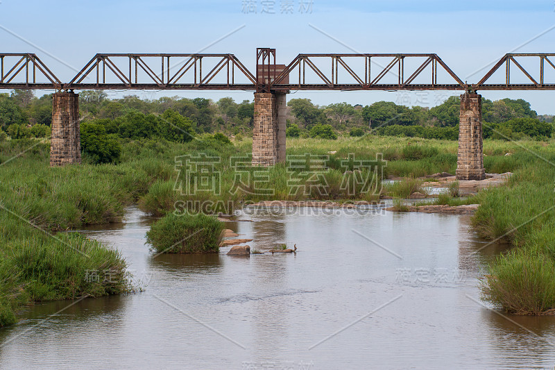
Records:
[[[35,305],[0,330],[2,369],[553,368],[555,318],[507,317],[479,300],[504,246],[468,217],[301,208],[228,223],[252,249],[159,255],[135,208],[85,233],[119,249],[144,292]]]

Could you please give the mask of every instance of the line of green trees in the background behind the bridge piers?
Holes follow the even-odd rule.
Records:
[[[101,90],[80,92],[79,99],[85,137],[111,135],[112,144],[117,139],[154,137],[187,142],[194,135],[206,133],[252,135],[253,101],[237,103],[230,97],[212,101],[178,96],[140,99],[136,95],[109,99]],[[51,101],[52,94],[36,97],[32,90],[0,94],[0,138],[48,137]],[[433,108],[407,107],[390,101],[366,106],[345,102],[318,106],[310,99],[289,99],[287,106],[289,137],[333,140],[338,135],[367,133],[445,140],[458,137],[458,96],[450,96]],[[485,138],[551,137],[553,131],[553,116],[538,116],[523,99],[482,99],[482,121]]]

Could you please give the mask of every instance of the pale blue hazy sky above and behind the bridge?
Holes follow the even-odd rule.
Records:
[[[95,53],[194,53],[212,44],[203,52],[234,53],[251,72],[255,72],[257,47],[276,48],[282,64],[298,53],[437,53],[463,81],[475,83],[507,52],[555,53],[554,10],[554,0],[1,0],[0,49],[37,53],[65,82]],[[527,65],[537,73],[539,68],[533,66]],[[546,72],[545,82],[555,83],[555,70]],[[124,94],[253,99],[252,92]],[[538,113],[555,113],[555,92],[482,95],[527,99]],[[434,106],[447,96],[441,92],[295,92],[288,99]]]

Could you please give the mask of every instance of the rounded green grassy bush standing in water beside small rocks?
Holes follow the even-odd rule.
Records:
[[[223,223],[216,217],[170,213],[156,221],[146,233],[158,253],[218,252]]]

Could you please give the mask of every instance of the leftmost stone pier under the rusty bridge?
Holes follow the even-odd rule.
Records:
[[[81,162],[79,94],[56,92],[52,99],[50,167]]]

